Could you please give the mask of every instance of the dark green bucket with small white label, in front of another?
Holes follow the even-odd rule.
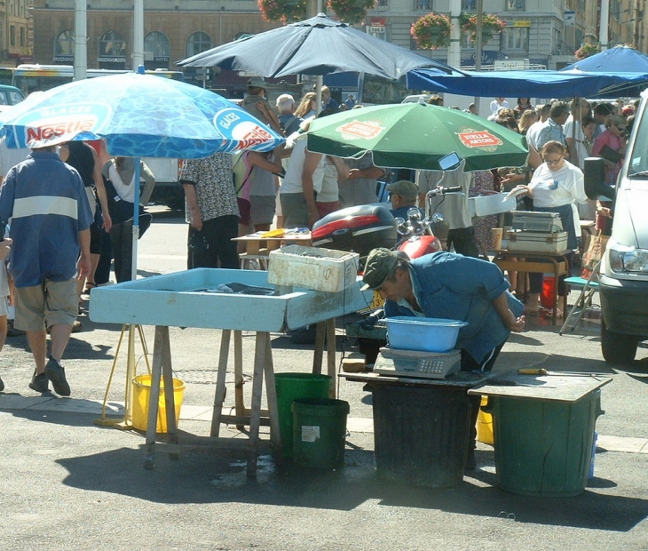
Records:
[[[295,400],[293,462],[301,467],[344,467],[349,403],[328,398]]]

